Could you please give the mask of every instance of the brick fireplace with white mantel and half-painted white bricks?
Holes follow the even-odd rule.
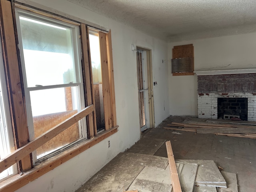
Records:
[[[256,121],[256,69],[195,71],[198,117]],[[219,101],[219,106],[218,106]],[[220,106],[220,101],[224,102]],[[220,110],[222,108],[222,110]]]

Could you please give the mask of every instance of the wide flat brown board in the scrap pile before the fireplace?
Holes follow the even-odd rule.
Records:
[[[218,134],[218,133],[256,133],[256,128],[197,128],[196,129],[197,133],[213,133],[213,134]]]

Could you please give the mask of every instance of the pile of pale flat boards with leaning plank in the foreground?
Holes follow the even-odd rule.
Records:
[[[166,142],[173,192],[238,192],[236,174],[220,172],[212,160],[174,160]],[[169,191],[169,190],[168,190]],[[138,191],[140,192],[140,191]]]

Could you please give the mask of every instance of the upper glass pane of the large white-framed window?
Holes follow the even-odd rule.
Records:
[[[20,16],[28,87],[76,82],[72,30]]]

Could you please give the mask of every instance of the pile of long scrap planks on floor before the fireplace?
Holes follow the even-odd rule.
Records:
[[[172,124],[168,124],[168,127],[164,127],[164,129],[256,139],[256,124],[220,123],[214,121],[206,121],[204,124],[172,122]]]

